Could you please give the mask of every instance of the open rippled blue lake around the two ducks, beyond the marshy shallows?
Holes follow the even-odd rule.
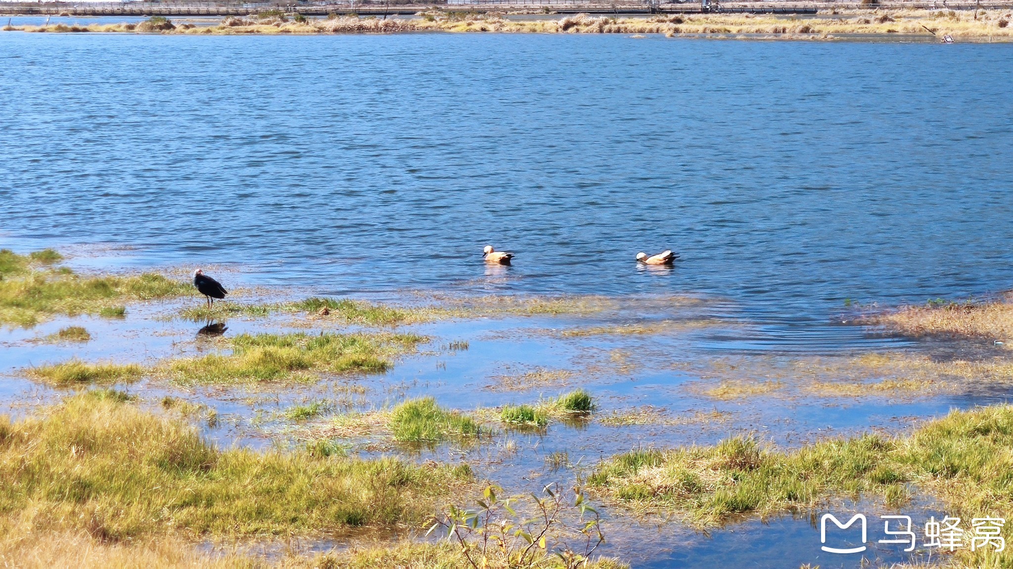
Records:
[[[333,293],[694,292],[826,320],[1011,282],[997,45],[0,34],[0,244]],[[481,247],[518,253],[485,278]],[[637,251],[673,248],[671,273]]]

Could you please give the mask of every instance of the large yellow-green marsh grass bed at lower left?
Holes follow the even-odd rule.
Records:
[[[0,511],[102,539],[333,534],[420,523],[471,480],[465,466],[219,451],[181,419],[73,397],[0,421]]]

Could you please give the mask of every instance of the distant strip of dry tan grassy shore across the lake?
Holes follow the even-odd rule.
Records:
[[[330,34],[409,31],[503,33],[629,33],[752,39],[861,39],[907,37],[954,42],[1013,42],[1008,9],[833,10],[817,14],[694,13],[647,16],[574,14],[559,18],[511,19],[501,13],[419,12],[415,17],[337,16],[308,18],[281,11],[227,16],[217,25],[196,25],[155,16],[140,23],[6,25],[5,31],[122,32],[160,34]]]

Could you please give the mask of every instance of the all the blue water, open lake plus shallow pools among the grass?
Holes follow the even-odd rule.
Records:
[[[573,469],[545,466],[554,452],[579,469],[638,445],[743,432],[787,446],[869,428],[901,432],[951,407],[1005,401],[1009,386],[729,401],[700,386],[712,385],[707,365],[726,357],[940,349],[844,322],[846,299],[891,306],[1009,288],[1013,70],[996,65],[1009,49],[0,33],[0,106],[10,117],[0,130],[0,247],[58,247],[84,270],[211,265],[229,288],[284,286],[274,291],[297,297],[647,299],[591,317],[416,326],[433,343],[389,374],[355,379],[363,397],[342,399],[346,379],[299,389],[157,380],[127,388],[152,408],[172,395],[215,409],[217,421],[202,429],[223,446],[297,443],[310,425],[281,412],[318,399],[365,410],[434,395],[469,410],[573,387],[595,394],[596,416],[651,405],[669,417],[727,418],[623,427],[596,418],[501,431],[471,449],[416,453],[387,441],[356,452],[467,460],[482,477],[530,490],[573,480]],[[484,266],[486,243],[517,252],[516,265]],[[683,254],[673,269],[632,261],[638,250],[669,247]],[[699,302],[659,308],[670,295]],[[156,319],[178,304],[132,306],[122,321],[3,330],[0,414],[21,416],[65,393],[25,379],[23,369],[43,361],[151,363],[216,349],[197,338],[203,323]],[[643,337],[560,334],[659,318],[717,323]],[[95,339],[37,341],[71,321]],[[226,335],[293,329],[285,319],[228,326]],[[444,348],[455,340],[468,349]],[[537,369],[572,376],[489,389],[497,376]],[[765,378],[748,370],[748,379]],[[606,515],[617,535],[607,553],[638,566],[837,566],[810,555],[819,537],[804,516],[711,536],[663,524],[655,537],[620,511]],[[760,549],[768,542],[784,551]]]

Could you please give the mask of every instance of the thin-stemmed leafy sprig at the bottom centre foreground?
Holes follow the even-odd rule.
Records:
[[[601,517],[579,489],[574,490],[572,506],[565,501],[558,484],[546,486],[542,496],[532,494],[531,504],[522,504],[519,497],[500,498],[501,491],[497,486],[487,486],[477,502],[478,509],[448,506],[428,533],[443,527],[448,541],[460,547],[472,569],[587,567],[592,555],[605,543]],[[518,512],[515,506],[522,505],[532,507],[531,517]],[[567,526],[564,520],[572,514],[578,521]]]

